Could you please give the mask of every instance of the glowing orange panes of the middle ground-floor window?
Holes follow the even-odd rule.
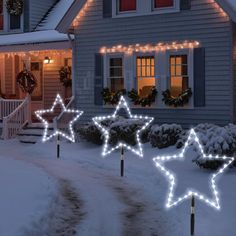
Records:
[[[140,97],[147,97],[156,86],[154,56],[137,57],[137,82]]]

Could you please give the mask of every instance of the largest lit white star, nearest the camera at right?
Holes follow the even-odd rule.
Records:
[[[203,194],[201,194],[197,191],[188,191],[187,190],[186,194],[184,196],[177,198],[177,200],[174,200],[174,190],[175,190],[175,187],[176,187],[176,177],[173,173],[168,171],[161,163],[165,162],[165,161],[170,161],[170,160],[183,160],[183,159],[185,159],[184,155],[185,155],[186,149],[191,143],[196,143],[198,145],[198,148],[200,150],[200,154],[204,159],[208,159],[208,160],[225,160],[226,161],[226,163],[223,164],[223,166],[215,174],[213,174],[212,177],[210,178],[210,187],[212,188],[212,193],[213,193],[213,198],[212,199],[206,198]],[[225,169],[227,169],[228,166],[234,161],[234,158],[226,157],[226,156],[220,157],[218,155],[216,155],[216,156],[213,156],[213,155],[208,155],[207,156],[207,155],[205,155],[203,147],[200,144],[200,141],[199,141],[199,138],[198,138],[196,132],[193,129],[191,129],[188,140],[185,143],[184,148],[183,148],[182,152],[179,155],[158,156],[158,157],[154,158],[153,161],[155,162],[156,167],[158,169],[160,169],[161,172],[163,172],[164,175],[169,180],[170,189],[169,189],[169,194],[168,194],[167,203],[166,203],[167,208],[172,208],[174,206],[177,206],[182,201],[184,201],[188,198],[191,198],[192,196],[195,196],[196,198],[198,198],[199,200],[207,203],[211,207],[213,207],[217,210],[220,210],[220,199],[219,199],[219,192],[217,191],[217,187],[216,187],[216,178],[219,175],[223,174]]]

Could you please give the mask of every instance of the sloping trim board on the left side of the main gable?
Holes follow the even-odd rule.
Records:
[[[67,13],[62,17],[61,21],[56,27],[56,30],[60,33],[67,33],[68,29],[71,26],[71,23],[73,22],[73,20],[78,15],[78,13],[83,8],[86,2],[87,0],[75,0],[68,9]]]

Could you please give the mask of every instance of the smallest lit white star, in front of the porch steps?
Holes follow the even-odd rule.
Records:
[[[54,132],[51,135],[48,135],[49,123],[46,119],[43,118],[43,115],[46,113],[53,114],[54,109],[55,109],[56,105],[58,105],[58,104],[61,106],[63,113],[76,114],[75,117],[68,123],[69,135],[67,135],[66,133],[64,133],[58,129],[54,130]],[[74,134],[74,130],[73,130],[73,124],[83,114],[83,111],[78,111],[78,110],[74,110],[74,109],[67,109],[59,94],[56,96],[56,99],[55,99],[51,109],[39,110],[39,111],[36,111],[35,114],[38,117],[38,119],[41,120],[42,123],[44,124],[44,134],[43,134],[42,142],[49,141],[50,139],[52,139],[53,137],[58,136],[58,135],[62,136],[63,138],[65,138],[73,143],[75,142],[75,134]]]

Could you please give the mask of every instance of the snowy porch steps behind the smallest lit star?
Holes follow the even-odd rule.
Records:
[[[52,125],[49,125],[49,134],[53,131]],[[17,138],[21,143],[35,144],[43,137],[44,126],[40,123],[33,123],[26,126],[18,135]]]

